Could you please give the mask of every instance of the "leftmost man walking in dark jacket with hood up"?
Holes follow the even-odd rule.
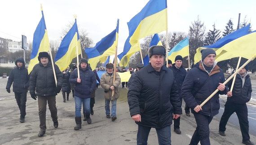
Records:
[[[6,91],[10,93],[10,88],[13,84],[13,92],[20,110],[20,122],[24,123],[26,116],[26,93],[29,87],[30,76],[28,75],[23,58],[18,58],[15,61],[15,65],[17,67],[14,68],[9,75]]]

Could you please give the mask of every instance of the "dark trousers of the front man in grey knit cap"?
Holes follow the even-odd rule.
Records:
[[[212,121],[211,116],[206,116],[200,113],[194,113],[194,118],[197,124],[196,130],[191,138],[190,145],[211,145],[209,124]]]

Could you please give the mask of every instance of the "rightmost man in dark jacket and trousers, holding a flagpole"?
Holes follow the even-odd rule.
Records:
[[[240,64],[239,67],[243,66]],[[244,66],[239,73],[236,75],[234,88],[232,92],[230,92],[230,88],[233,82],[233,79],[230,79],[226,86],[229,88],[227,92],[227,101],[225,104],[225,110],[223,115],[221,116],[221,121],[219,125],[219,133],[221,136],[226,136],[226,125],[230,116],[235,112],[239,124],[240,129],[243,136],[243,144],[245,145],[254,145],[250,141],[249,136],[249,121],[248,121],[248,109],[246,103],[250,101],[252,96],[252,83],[250,79],[250,75],[248,74],[248,65]]]

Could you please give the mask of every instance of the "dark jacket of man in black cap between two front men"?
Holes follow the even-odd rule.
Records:
[[[183,66],[181,66],[180,68],[177,68],[175,66],[175,63],[172,64],[172,66],[169,68],[173,71],[177,87],[179,88],[179,92],[181,92],[181,87],[185,79],[185,76],[187,75],[187,71],[183,68]]]

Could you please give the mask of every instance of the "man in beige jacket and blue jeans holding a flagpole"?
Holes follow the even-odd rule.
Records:
[[[118,73],[114,76],[113,71],[114,65],[112,63],[106,64],[106,73],[102,74],[101,77],[101,86],[104,88],[104,98],[105,98],[105,110],[106,118],[112,119],[115,121],[116,117],[116,101],[119,98],[119,89],[118,86],[121,83],[121,78]],[[115,82],[114,82],[115,77]],[[114,90],[114,94],[112,95]],[[111,102],[111,114],[110,114],[110,102]]]

